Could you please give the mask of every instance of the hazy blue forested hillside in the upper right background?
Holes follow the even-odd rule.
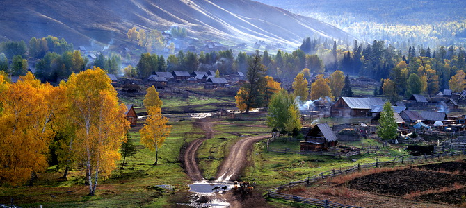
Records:
[[[465,44],[465,1],[259,0],[307,15],[367,42],[427,46]]]

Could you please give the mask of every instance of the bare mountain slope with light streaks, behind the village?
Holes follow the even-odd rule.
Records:
[[[353,38],[316,19],[250,0],[0,1],[0,40],[54,35],[75,45],[106,44],[124,40],[133,26],[163,31],[172,25],[200,40],[264,40],[290,47],[305,36]]]

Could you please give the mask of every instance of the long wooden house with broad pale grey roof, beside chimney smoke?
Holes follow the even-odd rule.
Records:
[[[330,115],[332,117],[364,117],[369,116],[373,105],[383,105],[380,98],[339,98],[332,105]]]

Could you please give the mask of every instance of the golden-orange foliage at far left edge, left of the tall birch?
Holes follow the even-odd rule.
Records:
[[[32,73],[8,84],[0,76],[0,183],[22,184],[33,171],[47,168],[51,106],[47,94],[53,88],[35,80]]]

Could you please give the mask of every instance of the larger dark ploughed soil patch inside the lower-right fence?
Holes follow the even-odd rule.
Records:
[[[348,187],[372,193],[403,196],[413,191],[451,187],[454,183],[466,184],[466,176],[408,168],[358,177],[348,182]]]

